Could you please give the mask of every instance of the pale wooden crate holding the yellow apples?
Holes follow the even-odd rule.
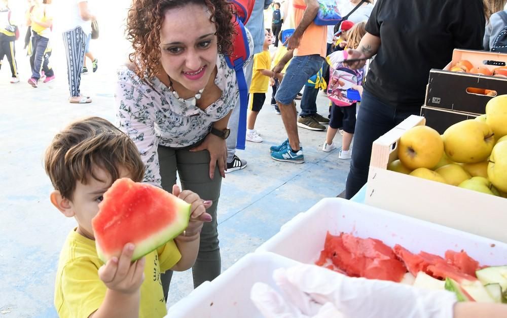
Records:
[[[373,143],[366,204],[507,243],[507,199],[387,170],[417,125],[425,118],[412,115]]]

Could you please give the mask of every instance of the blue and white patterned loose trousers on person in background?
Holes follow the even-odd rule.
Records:
[[[78,26],[63,32],[63,44],[67,55],[68,88],[71,97],[80,96],[81,71],[85,57],[86,33]]]

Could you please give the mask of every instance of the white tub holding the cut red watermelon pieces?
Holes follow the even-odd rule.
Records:
[[[421,197],[421,200],[431,198]],[[477,226],[483,226],[480,217]],[[257,252],[273,252],[299,262],[314,263],[324,248],[327,231],[335,235],[346,232],[372,237],[390,247],[400,244],[415,253],[425,251],[444,256],[447,250],[463,249],[481,265],[507,264],[505,243],[342,198],[322,199],[283,225]]]

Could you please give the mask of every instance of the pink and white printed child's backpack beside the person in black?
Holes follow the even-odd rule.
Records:
[[[364,70],[354,70],[343,65],[347,51],[335,51],[326,60],[330,65],[328,98],[337,106],[350,106],[356,102],[347,98],[347,90],[354,85],[361,85]]]

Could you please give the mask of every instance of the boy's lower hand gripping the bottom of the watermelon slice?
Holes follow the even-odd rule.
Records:
[[[124,294],[139,291],[144,281],[144,257],[130,262],[134,253],[132,243],[125,244],[120,259],[113,257],[98,269],[98,276],[105,286]]]

